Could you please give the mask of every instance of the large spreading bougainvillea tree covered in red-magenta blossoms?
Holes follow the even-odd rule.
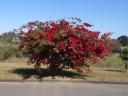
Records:
[[[111,53],[110,33],[89,30],[91,24],[79,18],[49,22],[29,22],[20,29],[21,51],[36,68],[47,64],[50,70],[64,67],[78,72],[91,70],[91,65]]]

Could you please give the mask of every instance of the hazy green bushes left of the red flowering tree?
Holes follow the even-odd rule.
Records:
[[[18,42],[17,30],[5,32],[0,38],[0,60],[6,60],[12,56],[20,58],[22,53],[17,46]]]

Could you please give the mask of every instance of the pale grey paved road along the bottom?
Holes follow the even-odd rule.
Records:
[[[0,96],[128,96],[128,85],[71,82],[0,82]]]

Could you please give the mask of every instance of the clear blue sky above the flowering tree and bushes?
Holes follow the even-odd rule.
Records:
[[[91,30],[128,35],[128,0],[0,0],[0,33],[30,21],[79,17]]]

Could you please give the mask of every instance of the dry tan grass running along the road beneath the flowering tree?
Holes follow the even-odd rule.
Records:
[[[116,58],[116,57],[114,57]],[[112,59],[112,58],[108,58]],[[108,60],[107,59],[107,60]],[[114,59],[112,59],[114,60]],[[0,62],[0,80],[52,80],[52,76],[47,74],[46,70],[41,70],[39,73],[33,68],[33,65],[27,65],[26,59],[10,59]],[[110,62],[111,60],[109,60]],[[118,60],[117,60],[118,61]],[[113,61],[113,62],[117,62]],[[128,73],[124,72],[121,64],[116,67],[104,66],[106,61],[102,61],[102,66],[94,66],[92,74],[85,74],[85,80],[96,81],[115,81],[115,82],[128,82]],[[113,63],[112,61],[110,63]],[[118,62],[119,63],[119,62]],[[121,63],[121,62],[120,62]],[[115,66],[111,64],[111,66]],[[46,72],[46,73],[45,73]],[[81,76],[74,70],[64,70],[61,74],[55,76],[57,80],[79,80]]]

